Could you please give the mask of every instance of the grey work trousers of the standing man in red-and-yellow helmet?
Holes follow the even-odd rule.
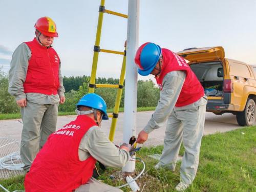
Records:
[[[28,172],[36,154],[56,130],[58,103],[36,104],[27,101],[27,106],[20,111],[23,120],[20,156],[25,164],[23,169]]]

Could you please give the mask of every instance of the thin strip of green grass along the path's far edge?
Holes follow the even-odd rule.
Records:
[[[155,106],[148,106],[144,108],[137,108],[138,112],[141,111],[154,111],[156,109]],[[108,113],[113,113],[114,109],[109,109]],[[119,112],[123,112],[124,109],[120,108]],[[65,115],[75,115],[75,112],[59,112],[58,116],[65,116]],[[14,113],[14,114],[0,114],[0,120],[7,120],[7,119],[20,119],[22,116],[20,116],[20,113]]]

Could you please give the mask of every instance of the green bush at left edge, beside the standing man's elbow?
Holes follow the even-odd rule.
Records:
[[[20,110],[15,98],[8,93],[8,86],[8,77],[0,69],[0,114],[18,113]]]

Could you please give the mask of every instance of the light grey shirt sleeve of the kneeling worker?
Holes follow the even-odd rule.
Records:
[[[129,153],[116,147],[101,131],[92,126],[81,139],[78,155],[81,161],[93,156],[106,166],[123,167],[129,160]]]

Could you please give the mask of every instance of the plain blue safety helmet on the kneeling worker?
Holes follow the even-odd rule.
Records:
[[[102,97],[95,93],[89,93],[84,95],[76,104],[78,106],[89,106],[95,110],[100,110],[103,113],[102,119],[109,119],[108,114],[106,114],[106,102]]]

